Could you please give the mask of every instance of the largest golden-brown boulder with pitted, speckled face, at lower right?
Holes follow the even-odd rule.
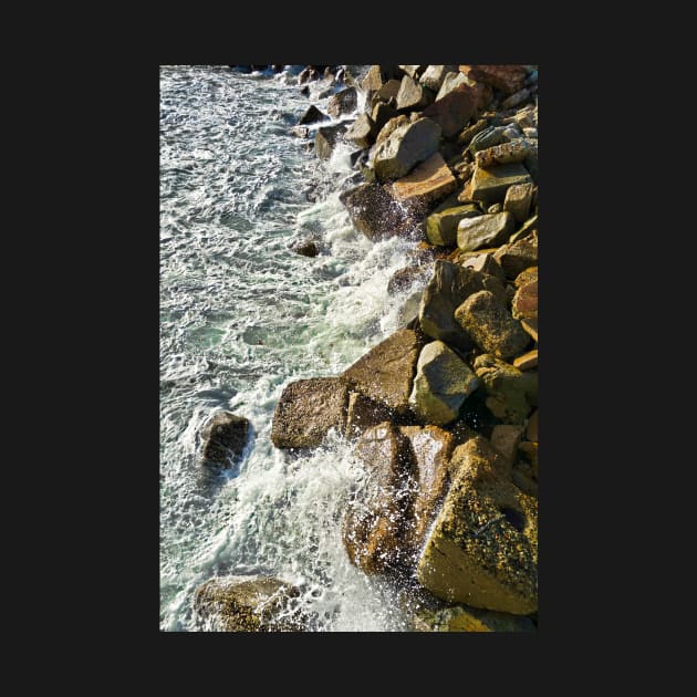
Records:
[[[538,506],[483,438],[458,446],[458,470],[418,562],[437,597],[529,615],[538,610]]]

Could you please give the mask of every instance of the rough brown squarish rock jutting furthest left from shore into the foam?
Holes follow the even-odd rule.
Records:
[[[271,440],[277,448],[320,445],[330,428],[344,433],[348,386],[339,377],[312,377],[287,385],[275,406]]]

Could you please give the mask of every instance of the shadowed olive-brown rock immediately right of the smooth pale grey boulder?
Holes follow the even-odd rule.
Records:
[[[538,374],[522,373],[491,354],[475,358],[475,372],[487,394],[486,406],[507,424],[523,424],[538,406]]]

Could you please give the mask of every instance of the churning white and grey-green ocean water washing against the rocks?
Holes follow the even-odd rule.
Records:
[[[284,386],[348,367],[399,327],[409,294],[386,290],[409,243],[371,242],[339,201],[350,148],[321,162],[291,133],[329,98],[327,83],[300,94],[300,67],[160,67],[162,631],[201,631],[191,601],[206,580],[258,573],[301,589],[311,631],[407,628],[397,590],[343,547],[366,475],[351,446],[332,434],[292,458],[270,439]],[[315,258],[290,249],[309,235]],[[218,409],[253,433],[241,462],[214,477],[197,434]]]

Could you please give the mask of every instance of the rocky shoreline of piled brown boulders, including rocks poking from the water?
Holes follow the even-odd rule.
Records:
[[[271,438],[291,452],[332,429],[353,441],[371,477],[345,512],[346,553],[404,589],[413,631],[535,631],[538,70],[373,65],[358,82],[350,67],[299,75],[332,96],[294,133],[313,131],[320,158],[355,146],[341,201],[371,240],[414,241],[391,292],[426,284],[402,329],[346,371],[289,384]],[[316,126],[358,97],[353,123]],[[225,467],[246,437],[240,417],[215,415],[207,462]],[[214,579],[195,610],[214,631],[303,631],[297,596],[269,578]]]

